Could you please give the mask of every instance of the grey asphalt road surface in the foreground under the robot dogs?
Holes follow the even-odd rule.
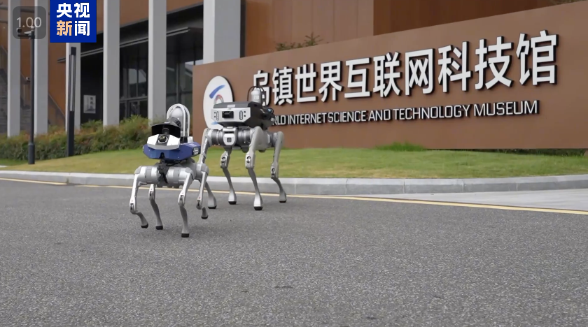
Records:
[[[587,216],[146,193],[0,180],[0,326],[588,326]]]

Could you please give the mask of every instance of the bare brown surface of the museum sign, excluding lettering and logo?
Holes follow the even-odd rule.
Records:
[[[369,110],[468,104],[472,107],[468,117],[453,119],[392,119],[384,122],[272,126],[272,131],[281,130],[286,134],[286,147],[372,147],[398,141],[416,143],[433,149],[588,148],[588,129],[585,127],[585,122],[588,121],[588,43],[585,42],[584,36],[584,31],[588,30],[588,22],[585,19],[587,16],[588,1],[582,1],[196,66],[193,82],[194,134],[198,136],[206,127],[203,114],[197,110],[196,104],[202,103],[204,89],[214,76],[221,75],[227,78],[235,100],[244,101],[247,89],[253,85],[253,75],[258,70],[270,73],[271,84],[271,73],[274,68],[288,66],[295,72],[296,68],[303,64],[314,63],[315,71],[318,71],[314,92],[304,95],[317,96],[318,101],[297,103],[296,80],[293,78],[293,104],[274,105],[272,96],[272,108],[276,115],[352,110],[368,110],[369,115]],[[549,35],[558,36],[554,63],[556,85],[549,82],[533,85],[532,73],[526,85],[521,85],[521,61],[516,54],[519,34],[527,34],[527,38],[530,39],[540,36],[540,31],[544,30],[547,30]],[[504,52],[510,57],[510,66],[505,77],[512,81],[512,85],[506,87],[498,83],[490,89],[476,89],[479,74],[475,71],[475,65],[478,63],[475,50],[479,46],[479,40],[486,39],[486,45],[491,47],[496,44],[498,36],[503,36],[505,43],[512,43],[512,48]],[[461,82],[455,81],[449,82],[449,92],[444,93],[438,82],[440,64],[437,61],[441,58],[438,50],[447,45],[461,49],[464,41],[469,42],[468,71],[472,72],[472,77],[468,80],[468,92],[462,91]],[[545,44],[540,43],[537,46],[540,45]],[[407,96],[405,54],[426,49],[434,50],[433,92],[423,94],[423,88],[414,86],[410,96]],[[373,59],[374,56],[381,56],[387,52],[400,54],[400,66],[397,71],[402,74],[396,81],[402,91],[400,96],[391,91],[385,98],[373,94],[369,98],[345,99],[344,93],[357,91],[347,86],[346,61]],[[532,57],[533,50],[529,54],[529,57]],[[454,54],[452,57],[456,59]],[[492,57],[496,57],[496,52],[490,52],[486,59]],[[337,101],[332,101],[329,94],[328,100],[322,102],[321,94],[318,93],[322,85],[320,69],[322,63],[330,61],[342,61],[339,85],[342,85],[343,89],[338,93]],[[461,59],[457,61],[461,62]],[[533,60],[529,58],[528,67],[532,66]],[[501,64],[496,64],[496,71],[500,71],[500,67]],[[374,87],[373,60],[370,60],[370,64],[358,68],[367,68],[367,89],[371,91]],[[458,71],[454,71],[455,73]],[[493,78],[491,68],[486,68],[484,73],[485,82],[489,82]],[[427,85],[423,87],[426,88]],[[473,115],[475,103],[515,101],[520,106],[519,101],[535,100],[539,103],[536,115]]]

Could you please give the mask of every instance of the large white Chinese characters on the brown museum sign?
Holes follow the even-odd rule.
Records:
[[[507,78],[507,72],[515,58],[521,63],[517,80],[521,85],[529,81],[533,85],[556,84],[557,66],[554,61],[557,45],[558,35],[549,35],[547,31],[540,31],[532,37],[520,34],[517,45],[505,42],[505,38],[499,36],[492,44],[486,39],[479,40],[473,58],[469,56],[470,43],[462,42],[439,49],[404,54],[388,52],[377,57],[326,62],[320,66],[312,63],[296,68],[274,68],[271,74],[258,71],[253,76],[253,85],[264,89],[269,106],[337,101],[339,96],[345,99],[372,95],[386,98],[402,96],[403,93],[410,96],[417,92],[416,89],[423,94],[432,94],[435,85],[439,85],[444,93],[454,87],[468,92],[468,82],[472,78],[475,78],[477,90],[492,89],[498,84],[512,87],[514,81]],[[438,59],[435,60],[435,57]],[[475,61],[473,71],[470,70],[470,61]],[[374,85],[371,89],[368,88],[367,73],[370,67],[373,73],[369,76]],[[344,68],[348,71],[346,80],[342,80]],[[402,75],[405,77],[404,85],[398,82]],[[318,94],[315,91],[317,79],[321,83]]]

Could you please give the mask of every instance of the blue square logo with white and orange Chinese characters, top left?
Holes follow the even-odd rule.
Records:
[[[51,0],[49,3],[49,42],[96,42],[96,0]]]

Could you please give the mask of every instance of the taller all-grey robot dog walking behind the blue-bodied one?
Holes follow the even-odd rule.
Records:
[[[204,164],[207,150],[213,145],[220,145],[225,149],[221,156],[221,168],[229,183],[229,204],[237,203],[237,195],[231,182],[229,173],[229,161],[232,150],[245,152],[245,168],[253,181],[255,188],[255,200],[253,208],[262,210],[263,202],[255,176],[255,152],[265,152],[269,147],[274,148],[274,161],[271,168],[271,177],[279,187],[279,201],[286,202],[286,191],[283,190],[279,180],[279,158],[283,145],[283,133],[281,131],[267,131],[275,122],[274,110],[264,106],[265,92],[260,87],[251,87],[247,92],[252,101],[223,102],[214,105],[211,110],[211,118],[214,122],[223,126],[223,129],[204,129],[202,135],[202,153],[199,164]]]

